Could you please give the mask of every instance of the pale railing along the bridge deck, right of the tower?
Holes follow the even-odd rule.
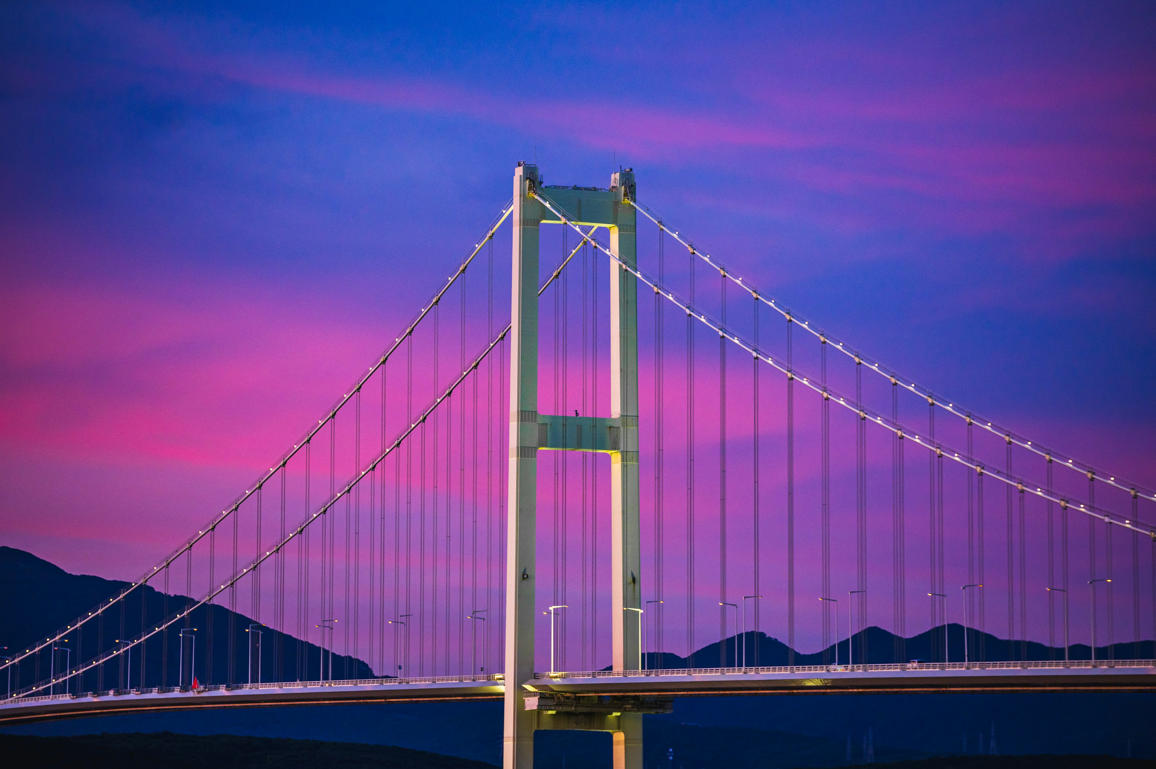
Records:
[[[773,667],[667,667],[640,671],[566,671],[534,673],[535,679],[646,678],[653,675],[761,675],[790,673],[899,673],[909,671],[1065,670],[1156,667],[1154,659],[1044,660],[1020,663],[891,663],[884,665],[779,665]]]

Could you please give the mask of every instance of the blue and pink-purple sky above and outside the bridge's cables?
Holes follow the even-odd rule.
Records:
[[[535,158],[633,167],[832,333],[1156,486],[1154,37],[1148,3],[5,3],[0,542],[148,568]]]

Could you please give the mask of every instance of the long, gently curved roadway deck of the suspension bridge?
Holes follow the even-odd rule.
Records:
[[[919,663],[535,673],[529,689],[572,694],[751,695],[953,692],[1151,692],[1156,660]],[[57,694],[0,701],[0,725],[76,716],[291,704],[496,700],[501,674],[290,681]]]

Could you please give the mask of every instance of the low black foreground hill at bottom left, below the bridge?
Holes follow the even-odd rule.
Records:
[[[16,737],[0,734],[7,767],[37,769],[492,769],[469,759],[390,745],[290,740],[212,734],[87,734]]]

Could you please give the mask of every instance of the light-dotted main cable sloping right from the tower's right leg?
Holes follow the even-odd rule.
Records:
[[[647,219],[650,219],[655,224],[658,224],[661,221],[653,212],[650,210],[650,208],[647,208],[645,205],[638,202],[637,200],[629,200],[628,199],[628,202],[630,202],[638,212],[640,212],[644,216],[646,216]],[[855,349],[854,347],[851,347],[850,345],[847,345],[847,343],[845,343],[845,342],[836,339],[833,335],[827,333],[825,331],[820,330],[814,324],[809,323],[808,320],[802,319],[796,312],[793,312],[792,310],[790,310],[786,306],[784,306],[780,302],[777,302],[773,298],[768,298],[765,296],[765,294],[762,294],[758,290],[758,288],[755,287],[750,281],[747,281],[742,276],[734,274],[733,271],[728,269],[727,267],[725,267],[721,264],[719,264],[718,261],[716,261],[713,259],[713,257],[711,257],[710,254],[704,253],[704,252],[699,251],[698,249],[696,249],[691,243],[689,243],[688,241],[683,239],[679,235],[679,232],[676,230],[670,230],[669,228],[667,228],[667,231],[670,232],[672,237],[674,237],[679,243],[681,243],[684,247],[687,247],[694,256],[697,256],[699,259],[702,259],[703,261],[705,261],[707,265],[710,265],[716,271],[718,271],[720,273],[724,273],[733,282],[735,282],[736,284],[741,286],[743,288],[743,290],[746,290],[746,291],[750,293],[753,296],[755,296],[758,301],[765,303],[768,306],[773,308],[778,313],[783,315],[784,317],[786,317],[787,313],[791,313],[794,317],[795,323],[801,324],[801,326],[806,331],[810,332],[816,338],[820,337],[821,334],[825,335],[828,338],[828,340],[835,346],[835,348],[838,349],[844,355],[846,355],[847,357],[851,357],[851,358],[859,357],[859,358],[861,358],[865,363],[867,363],[867,367],[870,370],[873,370],[876,374],[879,374],[880,376],[883,376],[883,377],[887,377],[887,378],[892,378],[894,377],[897,380],[897,383],[898,383],[899,386],[902,386],[904,390],[907,390],[909,392],[912,392],[912,393],[919,395],[920,398],[926,399],[926,398],[933,397],[931,390],[928,390],[927,387],[924,387],[922,385],[919,385],[918,383],[916,383],[912,379],[903,377],[897,371],[884,367],[879,361],[875,361],[875,360],[870,358],[869,356],[865,355],[862,352]],[[971,412],[964,409],[962,406],[955,406],[954,402],[949,402],[949,404],[944,405],[941,400],[936,400],[935,405],[939,406],[939,407],[941,407],[941,408],[943,408],[944,411],[954,414],[955,416],[958,416],[959,419],[963,419],[963,420],[969,419],[969,416],[972,417],[972,419],[978,419],[978,417],[975,417],[975,415]],[[1028,451],[1031,451],[1031,452],[1036,453],[1040,458],[1045,458],[1047,456],[1058,458],[1058,459],[1060,459],[1061,466],[1068,467],[1069,469],[1075,469],[1075,471],[1077,471],[1080,473],[1087,473],[1089,471],[1096,472],[1095,468],[1091,465],[1087,464],[1087,463],[1079,461],[1075,458],[1067,457],[1066,454],[1061,454],[1059,452],[1051,451],[1048,449],[1039,448],[1039,446],[1037,446],[1035,444],[1035,442],[1028,441],[1024,436],[1022,436],[1022,435],[1020,435],[1020,434],[1017,434],[1017,432],[1015,432],[1013,430],[1008,430],[1007,428],[1001,427],[998,423],[985,422],[983,420],[979,420],[979,427],[980,427],[980,429],[987,430],[988,432],[991,432],[993,435],[998,435],[1001,438],[1005,437],[1005,436],[1011,436],[1013,443],[1020,445],[1022,449],[1027,449]],[[1136,486],[1134,483],[1131,483],[1128,481],[1125,481],[1124,479],[1120,479],[1118,476],[1105,475],[1104,473],[1098,473],[1098,472],[1096,474],[1098,476],[1101,476],[1102,480],[1104,478],[1109,478],[1110,480],[1107,480],[1105,482],[1111,483],[1112,486],[1114,486],[1114,487],[1117,487],[1117,488],[1119,488],[1119,489],[1121,489],[1124,491],[1127,491],[1128,494],[1131,494],[1132,490],[1135,489],[1136,493],[1139,494],[1139,496],[1148,500],[1149,502],[1156,502],[1156,490],[1148,489],[1148,488],[1141,488],[1141,487],[1139,487],[1139,486]]]

